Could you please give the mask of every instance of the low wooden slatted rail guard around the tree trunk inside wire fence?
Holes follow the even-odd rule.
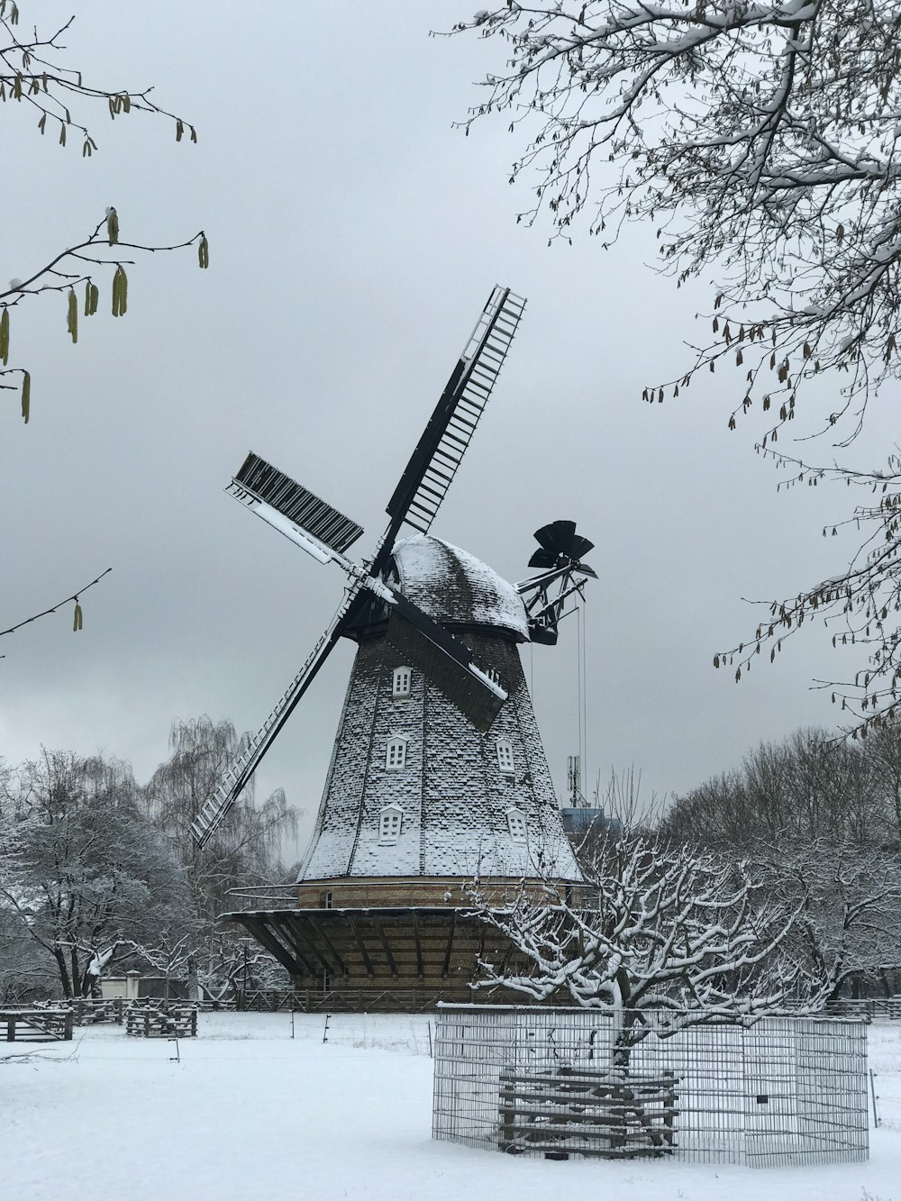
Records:
[[[667,1155],[675,1145],[672,1071],[502,1068],[499,1094],[499,1145],[512,1154],[631,1159]]]

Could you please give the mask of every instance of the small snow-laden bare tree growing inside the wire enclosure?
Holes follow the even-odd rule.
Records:
[[[628,832],[595,844],[587,888],[524,883],[514,902],[479,916],[512,940],[525,972],[483,963],[482,986],[503,985],[544,1002],[609,1014],[621,1063],[648,1033],[750,1020],[784,1006],[798,973],[781,955],[789,910],[763,906],[744,865],[669,848]]]

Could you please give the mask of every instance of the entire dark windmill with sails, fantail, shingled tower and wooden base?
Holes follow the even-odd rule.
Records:
[[[291,903],[257,902],[228,915],[298,987],[332,1006],[470,999],[477,961],[511,954],[466,916],[473,879],[499,903],[523,879],[565,888],[581,880],[518,645],[556,641],[568,599],[595,575],[580,561],[592,544],[572,521],[544,526],[530,561],[539,574],[514,585],[430,533],[524,305],[507,288],[491,293],[388,502],[388,528],[371,562],[347,557],[360,526],[257,455],[227,489],[350,579],[332,623],[193,824],[203,847],[338,639],[353,640]],[[400,537],[404,526],[410,533]]]

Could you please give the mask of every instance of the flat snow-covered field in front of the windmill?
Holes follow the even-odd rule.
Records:
[[[0,1197],[901,1201],[901,1024],[870,1027],[867,1164],[553,1163],[431,1141],[428,1017],[201,1015],[175,1047],[88,1027],[0,1045]],[[80,1038],[79,1038],[80,1035]]]

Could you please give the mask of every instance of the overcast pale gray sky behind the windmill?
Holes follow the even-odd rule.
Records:
[[[38,28],[70,5],[23,0]],[[496,44],[431,38],[470,10],[356,0],[78,6],[67,60],[105,86],[156,85],[197,125],[83,109],[100,150],[42,139],[0,109],[0,274],[24,277],[80,240],[108,204],[123,240],[195,251],[130,268],[129,313],[108,288],[65,333],[65,301],[13,316],[11,365],[32,374],[32,418],[0,407],[2,627],[107,566],[71,611],[2,639],[0,753],[41,743],[130,759],[147,778],[174,717],[256,729],[341,597],[323,568],[222,492],[247,449],[358,520],[384,504],[495,282],[529,306],[483,425],[432,532],[508,579],[532,532],[572,518],[596,542],[586,613],[587,772],[634,764],[646,794],[680,791],[759,740],[835,721],[811,676],[841,664],[811,629],[735,686],[715,650],[753,629],[741,596],[796,592],[835,570],[821,527],[847,495],[776,495],[753,426],[727,430],[738,375],[664,405],[642,389],[686,364],[704,288],[646,265],[654,231],[603,252],[584,232],[548,246],[507,185],[521,143],[503,123],[453,129]],[[76,114],[77,115],[77,114]],[[879,443],[879,408],[866,444]],[[810,452],[829,461],[831,450]],[[851,549],[851,548],[849,548]],[[332,656],[259,772],[315,815],[352,645]],[[524,650],[562,791],[578,749],[577,638]],[[302,842],[303,842],[302,836]]]

